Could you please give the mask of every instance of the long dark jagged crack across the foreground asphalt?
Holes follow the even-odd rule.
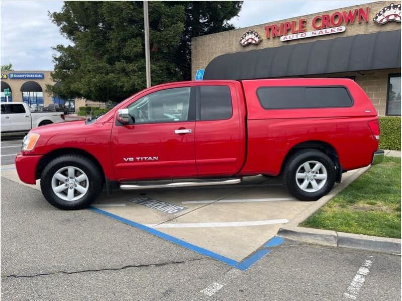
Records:
[[[117,267],[117,268],[88,269],[88,270],[81,270],[81,271],[74,271],[74,272],[56,271],[56,272],[41,273],[41,274],[35,274],[35,275],[4,275],[4,276],[2,276],[2,278],[33,278],[33,277],[38,277],[38,276],[48,276],[48,275],[55,275],[55,274],[71,275],[71,274],[102,272],[102,271],[119,271],[119,270],[124,270],[124,269],[132,268],[132,267],[160,267],[160,266],[164,266],[164,265],[182,264],[182,263],[186,263],[186,262],[198,261],[198,260],[203,260],[203,259],[208,259],[208,257],[191,258],[191,259],[186,259],[186,260],[181,260],[181,261],[166,261],[166,262],[150,263],[150,264],[130,264],[130,265],[125,265],[125,266]]]

